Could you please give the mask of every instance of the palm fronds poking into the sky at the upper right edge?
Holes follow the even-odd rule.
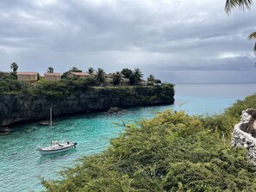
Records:
[[[240,9],[250,9],[253,4],[253,0],[226,0],[225,11],[229,14],[231,9],[240,7]],[[256,39],[256,32],[253,32],[248,36],[249,40]],[[256,54],[256,42],[253,48],[254,54]]]

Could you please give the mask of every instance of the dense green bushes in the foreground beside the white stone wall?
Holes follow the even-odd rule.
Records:
[[[190,116],[165,111],[152,120],[124,125],[101,154],[81,158],[45,181],[47,191],[256,191],[256,167],[230,133],[256,96],[222,115]],[[252,105],[251,105],[252,104]]]

